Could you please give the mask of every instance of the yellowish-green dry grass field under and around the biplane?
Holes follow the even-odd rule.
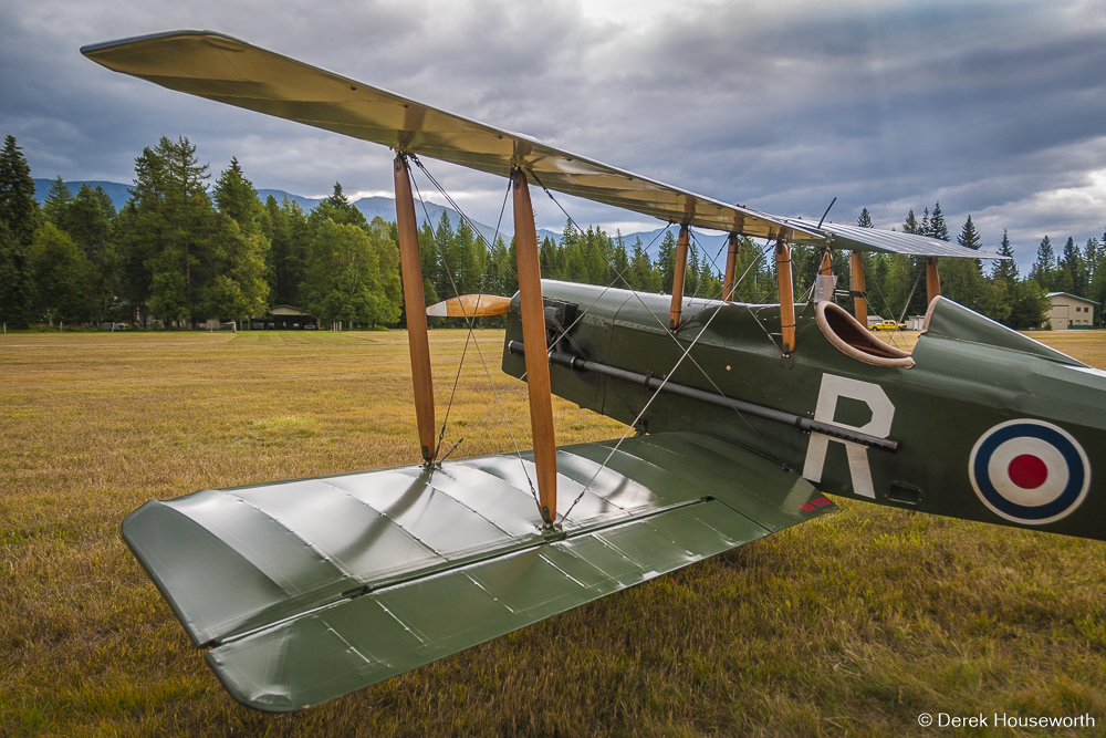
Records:
[[[1034,337],[1106,367],[1106,332]],[[529,446],[502,332],[478,339]],[[431,333],[439,422],[465,340]],[[119,521],[150,498],[417,461],[406,345],[0,336],[0,735],[1057,735],[918,725],[940,711],[1089,713],[1097,729],[1060,735],[1106,735],[1106,544],[848,501],[321,707],[240,707]],[[447,443],[491,403],[472,358]],[[560,443],[623,429],[554,403]],[[457,454],[511,443],[493,413]]]

